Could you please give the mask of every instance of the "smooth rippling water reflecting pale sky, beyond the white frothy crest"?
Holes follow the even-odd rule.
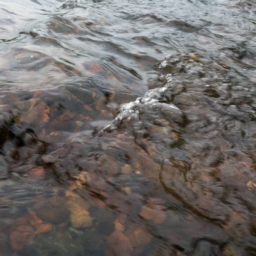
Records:
[[[91,131],[95,121],[102,120],[99,123],[104,125],[113,119],[116,105],[142,96],[150,79],[157,77],[153,64],[178,52],[198,52],[229,70],[230,75],[255,82],[253,4],[2,2],[0,103],[3,109],[27,112],[30,106],[24,108],[23,103],[44,97],[57,115],[71,110],[87,118],[75,118],[85,123],[82,129],[72,124],[52,127],[53,122],[47,122],[46,134]],[[42,96],[37,90],[44,90]],[[102,106],[106,96],[111,99],[108,107]],[[79,100],[70,103],[70,97]],[[83,109],[83,105],[89,108]],[[26,120],[26,115],[21,119]],[[41,133],[34,119],[29,125]]]

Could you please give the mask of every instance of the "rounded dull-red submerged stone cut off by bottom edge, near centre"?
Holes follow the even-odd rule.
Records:
[[[129,239],[121,232],[115,231],[108,239],[105,256],[129,256],[132,247]]]

